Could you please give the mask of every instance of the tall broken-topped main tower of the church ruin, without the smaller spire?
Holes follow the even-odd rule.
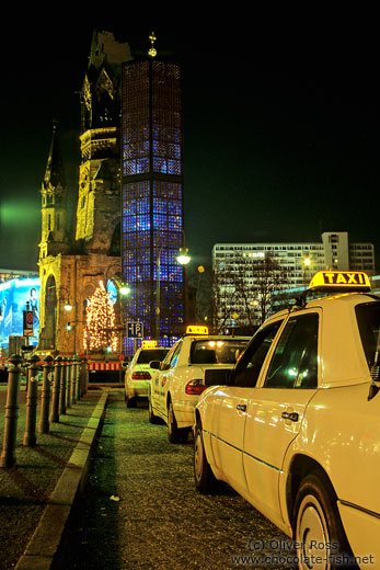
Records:
[[[76,240],[90,253],[119,255],[120,69],[131,59],[128,44],[94,32],[81,91],[81,164]]]

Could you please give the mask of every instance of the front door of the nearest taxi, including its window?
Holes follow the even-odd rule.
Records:
[[[243,438],[246,410],[261,368],[275,339],[281,320],[260,330],[243,352],[231,375],[231,385],[221,386],[212,398],[210,431],[216,466],[238,491],[246,490],[243,468]]]

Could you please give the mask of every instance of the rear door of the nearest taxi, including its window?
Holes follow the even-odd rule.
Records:
[[[243,466],[252,502],[279,516],[279,478],[290,442],[318,388],[318,311],[290,316],[246,409]]]

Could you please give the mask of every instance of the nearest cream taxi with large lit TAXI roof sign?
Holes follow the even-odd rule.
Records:
[[[379,350],[367,274],[319,272],[196,406],[196,488],[229,483],[292,537],[300,569],[380,568]]]

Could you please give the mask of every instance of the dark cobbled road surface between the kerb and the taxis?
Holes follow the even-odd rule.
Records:
[[[218,495],[199,494],[193,442],[170,444],[166,426],[151,425],[145,407],[126,409],[120,391],[111,397],[59,567],[293,568],[289,544],[230,488]]]

